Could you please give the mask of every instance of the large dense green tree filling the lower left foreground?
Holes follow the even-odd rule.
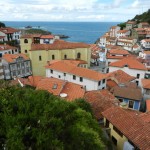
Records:
[[[46,91],[3,84],[0,149],[2,144],[11,150],[104,149],[102,131],[90,111],[83,100],[67,102]]]

